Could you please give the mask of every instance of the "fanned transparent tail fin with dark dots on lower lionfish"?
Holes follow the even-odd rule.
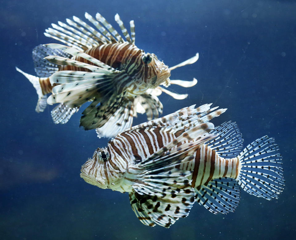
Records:
[[[271,200],[283,191],[282,155],[273,138],[261,137],[249,144],[238,156],[240,170],[236,181],[257,197]]]

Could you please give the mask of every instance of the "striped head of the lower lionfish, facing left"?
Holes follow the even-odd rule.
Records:
[[[80,177],[85,182],[106,189],[113,188],[121,177],[121,171],[114,169],[110,162],[107,148],[98,148],[84,165],[81,166]]]

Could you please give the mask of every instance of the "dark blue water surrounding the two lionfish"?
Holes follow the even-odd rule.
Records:
[[[294,239],[295,56],[294,1],[0,1],[1,164],[0,239]],[[214,215],[195,204],[170,229],[142,225],[128,195],[80,178],[80,167],[107,139],[78,128],[80,114],[55,125],[52,106],[36,113],[31,58],[50,23],[100,12],[116,25],[136,25],[136,45],[173,66],[199,60],[171,79],[198,79],[185,100],[162,94],[164,114],[192,104],[228,110],[213,121],[236,121],[245,145],[264,136],[280,147],[286,187],[267,201],[242,191],[235,213]],[[118,28],[117,28],[118,29]],[[134,124],[146,121],[145,116]]]

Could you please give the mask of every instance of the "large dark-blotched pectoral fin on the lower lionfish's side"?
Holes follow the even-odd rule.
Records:
[[[182,145],[174,151],[170,149],[184,139],[202,136],[212,127],[212,124],[204,123],[188,130],[141,164],[131,167],[131,171],[138,169],[138,176],[133,184],[133,192],[130,193],[130,202],[143,224],[158,224],[168,228],[180,217],[188,216],[195,201],[194,189],[191,187],[191,181],[187,179],[191,172],[175,166],[181,161],[191,161],[199,145],[213,136],[209,134],[208,137],[201,137],[199,141]]]

